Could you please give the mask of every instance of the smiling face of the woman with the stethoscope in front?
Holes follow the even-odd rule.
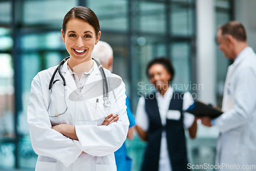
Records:
[[[100,38],[96,36],[94,28],[83,19],[71,18],[66,25],[66,32],[62,33],[62,40],[70,54],[70,62],[82,63],[92,59],[94,46]]]

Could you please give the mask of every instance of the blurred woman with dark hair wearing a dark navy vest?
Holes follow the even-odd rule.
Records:
[[[141,170],[188,170],[184,130],[195,138],[197,122],[184,111],[194,100],[189,93],[175,92],[170,86],[174,68],[168,58],[150,61],[146,75],[156,92],[142,96],[136,111],[137,132],[147,142]]]

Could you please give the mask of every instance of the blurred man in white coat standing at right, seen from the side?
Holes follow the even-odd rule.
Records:
[[[233,60],[228,67],[221,116],[201,118],[220,130],[218,170],[256,170],[256,54],[247,44],[244,26],[231,21],[217,33],[219,50]]]

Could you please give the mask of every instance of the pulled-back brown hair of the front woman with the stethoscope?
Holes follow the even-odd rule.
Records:
[[[100,31],[100,27],[99,27],[99,20],[96,16],[96,14],[87,7],[74,7],[72,8],[64,17],[63,19],[63,23],[62,23],[62,30],[63,33],[66,33],[66,25],[68,23],[68,21],[71,18],[78,18],[78,19],[84,19],[86,20],[86,22],[88,22],[95,30],[96,36],[99,36],[99,31]]]

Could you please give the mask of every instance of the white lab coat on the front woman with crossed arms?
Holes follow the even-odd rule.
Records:
[[[39,72],[31,84],[27,120],[32,147],[38,154],[35,170],[116,170],[114,152],[123,144],[129,127],[124,83],[119,76],[104,70],[106,77],[116,78],[114,84],[119,81],[119,86],[109,93],[111,106],[106,108],[103,106],[102,81],[95,82],[102,79],[95,61],[93,72],[81,92],[77,89],[66,61],[61,67],[61,73],[67,82],[68,111],[59,117],[50,118],[47,113],[48,87],[55,68]],[[62,79],[58,73],[56,79],[60,81],[55,82],[53,86],[49,109],[51,115],[66,109]],[[109,84],[112,83],[109,81]],[[97,98],[99,103],[96,108]],[[118,114],[119,120],[108,126],[102,126],[104,119],[110,113]],[[51,129],[52,126],[60,123],[75,125],[79,141],[67,138]]]

